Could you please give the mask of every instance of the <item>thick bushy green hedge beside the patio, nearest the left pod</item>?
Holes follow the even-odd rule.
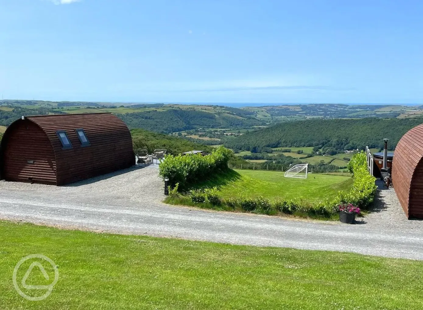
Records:
[[[227,169],[232,156],[233,152],[222,146],[206,156],[170,154],[159,165],[159,175],[168,177],[172,185],[179,183],[179,187],[186,188],[188,184],[208,178],[211,173]]]

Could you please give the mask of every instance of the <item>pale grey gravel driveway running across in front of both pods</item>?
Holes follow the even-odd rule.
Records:
[[[157,165],[69,186],[0,182],[0,218],[114,233],[423,259],[423,222],[408,221],[393,189],[356,225],[168,206]]]

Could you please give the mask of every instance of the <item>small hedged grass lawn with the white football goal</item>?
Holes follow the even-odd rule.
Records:
[[[309,174],[308,178],[285,178],[283,172],[262,170],[232,170],[217,175],[196,187],[218,186],[222,197],[257,197],[262,195],[270,200],[292,199],[302,196],[310,202],[336,195],[352,185],[349,176],[327,176]]]

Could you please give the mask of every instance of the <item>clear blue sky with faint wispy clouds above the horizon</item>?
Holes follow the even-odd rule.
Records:
[[[0,0],[0,93],[423,104],[422,16],[422,1]]]

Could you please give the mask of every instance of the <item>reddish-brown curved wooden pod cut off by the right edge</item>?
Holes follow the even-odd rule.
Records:
[[[423,124],[409,130],[396,146],[392,182],[408,219],[423,219]]]

